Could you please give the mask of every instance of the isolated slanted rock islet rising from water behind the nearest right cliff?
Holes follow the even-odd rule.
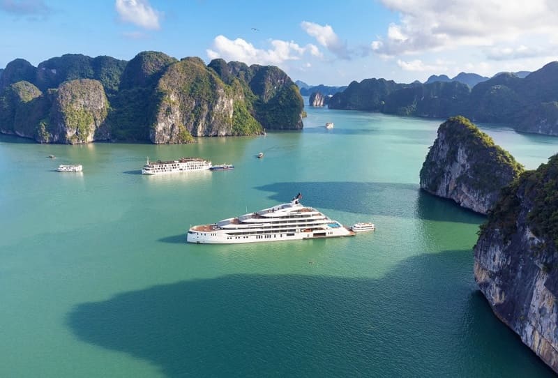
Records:
[[[442,123],[421,169],[421,189],[486,214],[523,168],[468,119]]]

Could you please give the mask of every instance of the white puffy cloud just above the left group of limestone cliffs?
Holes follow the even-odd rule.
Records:
[[[270,44],[270,49],[262,50],[242,38],[230,40],[225,36],[216,36],[212,48],[206,52],[209,59],[223,58],[226,61],[241,61],[246,64],[273,65],[299,60],[306,52],[312,56],[320,55],[318,48],[312,44],[301,47],[293,41],[285,40],[271,40]]]

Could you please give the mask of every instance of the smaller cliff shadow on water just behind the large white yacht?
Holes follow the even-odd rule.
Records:
[[[294,193],[301,192],[303,204],[321,210],[472,224],[485,220],[484,216],[430,195],[413,183],[293,182],[256,189],[275,193],[269,198],[277,202],[288,202]]]

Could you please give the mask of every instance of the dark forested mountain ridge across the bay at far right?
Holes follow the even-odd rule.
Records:
[[[502,73],[472,89],[458,81],[398,84],[365,79],[333,95],[329,107],[430,118],[462,115],[476,122],[505,123],[526,133],[558,136],[558,62],[525,78]]]

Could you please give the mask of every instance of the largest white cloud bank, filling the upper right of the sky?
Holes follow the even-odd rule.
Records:
[[[372,51],[398,56],[461,46],[495,47],[489,59],[520,59],[547,54],[550,48],[506,52],[500,45],[558,34],[558,1],[555,0],[381,0],[400,13],[382,38],[372,41]],[[506,58],[503,58],[507,56]]]

